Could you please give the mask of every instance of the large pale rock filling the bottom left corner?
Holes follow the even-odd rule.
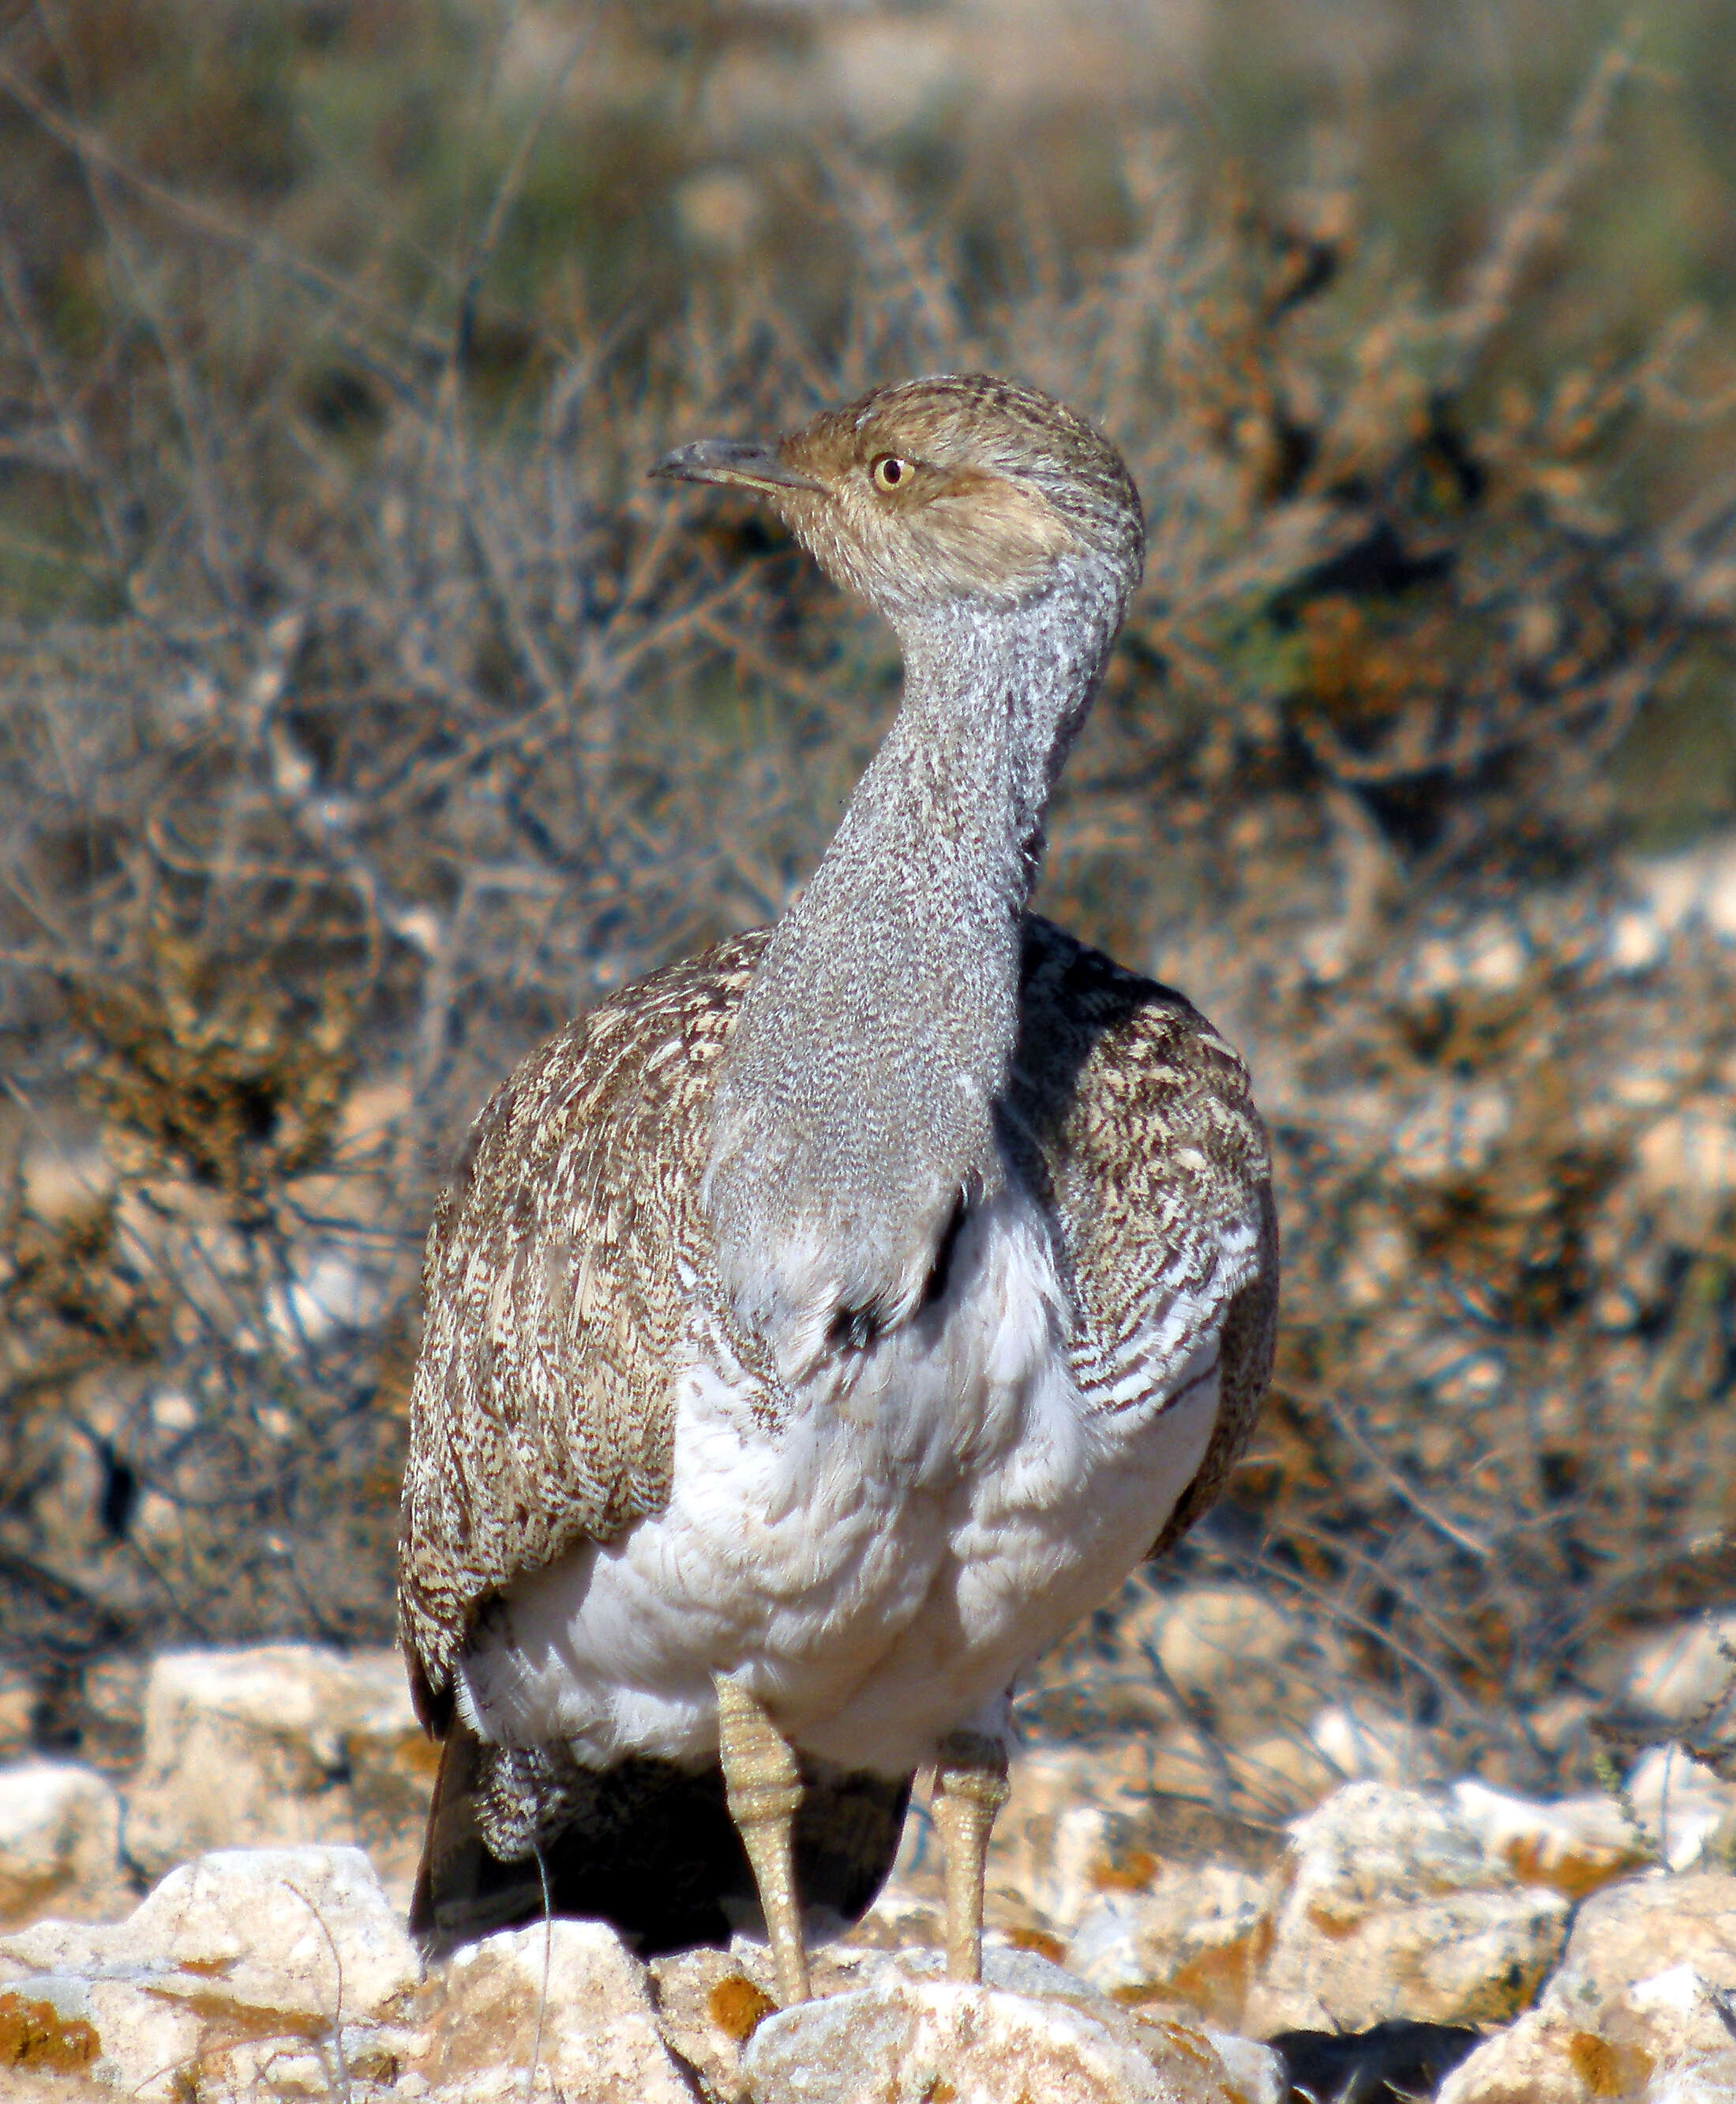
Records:
[[[126,1921],[0,1936],[0,1992],[95,2032],[90,2079],[141,2104],[324,2098],[396,2072],[421,1961],[366,1856],[223,1852]]]

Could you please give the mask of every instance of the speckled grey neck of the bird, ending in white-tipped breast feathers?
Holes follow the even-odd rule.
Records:
[[[903,707],[743,997],[705,1203],[787,1378],[909,1319],[997,1182],[1044,814],[1119,625],[1088,583],[901,623]]]

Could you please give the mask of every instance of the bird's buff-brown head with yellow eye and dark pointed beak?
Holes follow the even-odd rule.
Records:
[[[1119,452],[1052,396],[985,372],[877,387],[766,444],[703,438],[652,476],[753,490],[894,621],[1016,606],[1063,576],[1124,604],[1145,562]]]

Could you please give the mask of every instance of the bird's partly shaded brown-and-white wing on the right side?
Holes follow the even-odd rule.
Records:
[[[1061,1220],[1086,1401],[1138,1405],[1223,1326],[1218,1420],[1168,1546],[1218,1494],[1271,1374],[1277,1216],[1248,1069],[1183,995],[1033,917],[1008,1094]]]

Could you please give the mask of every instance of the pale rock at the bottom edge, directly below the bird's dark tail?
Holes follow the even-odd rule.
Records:
[[[408,2083],[429,2104],[518,2104],[526,2093],[545,2104],[694,2104],[644,1965],[602,1921],[465,1944],[433,1986],[438,2007]]]

